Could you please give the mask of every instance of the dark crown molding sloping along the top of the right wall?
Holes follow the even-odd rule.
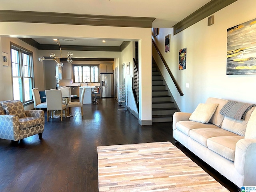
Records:
[[[194,13],[175,24],[173,26],[174,35],[236,1],[237,0],[211,0]]]

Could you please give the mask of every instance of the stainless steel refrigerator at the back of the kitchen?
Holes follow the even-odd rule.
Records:
[[[113,74],[100,74],[101,98],[114,97],[114,78]]]

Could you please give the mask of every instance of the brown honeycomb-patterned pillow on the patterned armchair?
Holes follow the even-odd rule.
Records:
[[[26,117],[23,104],[20,101],[1,102],[6,115]]]

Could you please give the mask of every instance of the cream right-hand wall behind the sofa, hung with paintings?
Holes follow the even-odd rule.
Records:
[[[255,0],[238,0],[214,13],[214,24],[207,18],[173,35],[170,28],[160,28],[154,39],[184,96],[166,81],[178,107],[192,112],[208,97],[256,104],[256,75],[226,75],[227,29],[256,18]],[[170,52],[164,53],[164,36],[171,34]],[[186,70],[178,70],[178,51],[187,48]],[[186,88],[189,83],[189,88]]]

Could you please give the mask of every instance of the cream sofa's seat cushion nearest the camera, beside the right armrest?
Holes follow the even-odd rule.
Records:
[[[208,149],[216,152],[217,154],[223,156],[224,158],[230,161],[234,161],[236,143],[243,138],[243,136],[212,137],[207,140],[207,146]]]

